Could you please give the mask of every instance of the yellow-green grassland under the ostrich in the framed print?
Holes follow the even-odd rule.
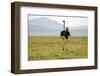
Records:
[[[28,60],[87,58],[87,37],[29,36]]]

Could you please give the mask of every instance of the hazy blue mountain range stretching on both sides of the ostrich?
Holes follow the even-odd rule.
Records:
[[[46,17],[29,20],[29,35],[59,36],[62,30],[63,30],[63,24]],[[88,32],[87,30],[88,29],[86,26],[69,27],[71,35],[74,36],[83,36],[83,35],[86,36]]]

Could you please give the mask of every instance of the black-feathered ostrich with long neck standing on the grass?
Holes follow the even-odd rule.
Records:
[[[70,32],[68,30],[68,27],[65,27],[65,20],[63,20],[63,23],[64,23],[63,30],[61,31],[60,36],[64,42],[64,44],[63,44],[63,50],[64,50],[64,46],[65,46],[66,40],[70,36]]]

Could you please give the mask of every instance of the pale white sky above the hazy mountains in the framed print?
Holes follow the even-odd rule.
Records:
[[[29,20],[46,17],[50,20],[55,20],[61,24],[63,24],[63,20],[65,20],[66,27],[75,27],[75,26],[88,26],[88,17],[83,16],[46,16],[46,15],[29,15]]]

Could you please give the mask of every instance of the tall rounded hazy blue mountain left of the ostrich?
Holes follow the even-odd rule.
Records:
[[[59,31],[61,31],[61,29],[62,24],[46,17],[32,19],[29,21],[30,35],[59,35]]]

